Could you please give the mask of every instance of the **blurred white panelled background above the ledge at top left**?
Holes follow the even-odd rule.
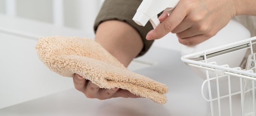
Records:
[[[102,2],[103,0],[0,0],[0,13],[93,33],[93,22]]]

